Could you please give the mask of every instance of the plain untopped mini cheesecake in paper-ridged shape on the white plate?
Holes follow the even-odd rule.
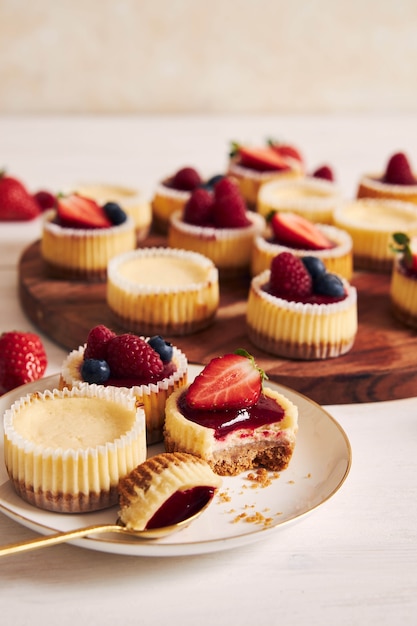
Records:
[[[119,480],[146,459],[145,414],[121,389],[28,394],[4,416],[4,458],[18,495],[85,513],[117,504]]]

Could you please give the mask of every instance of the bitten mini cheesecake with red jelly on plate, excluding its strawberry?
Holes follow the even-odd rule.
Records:
[[[191,408],[183,389],[168,399],[164,439],[169,452],[194,454],[217,474],[233,476],[256,467],[284,470],[297,429],[297,407],[271,388],[252,407],[224,410]]]

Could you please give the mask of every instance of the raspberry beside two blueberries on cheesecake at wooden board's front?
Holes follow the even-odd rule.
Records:
[[[272,259],[270,292],[285,300],[311,295],[312,278],[302,260],[291,252],[281,252]]]

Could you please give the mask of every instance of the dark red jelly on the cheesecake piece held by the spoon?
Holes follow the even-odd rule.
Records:
[[[164,504],[159,507],[156,513],[146,524],[146,528],[163,528],[178,524],[189,519],[206,506],[214,496],[214,487],[192,487],[183,491],[176,491]]]

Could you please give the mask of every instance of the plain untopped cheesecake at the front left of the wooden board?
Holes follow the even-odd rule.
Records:
[[[209,326],[219,305],[219,276],[202,254],[141,248],[108,265],[107,304],[126,330],[187,335]]]

